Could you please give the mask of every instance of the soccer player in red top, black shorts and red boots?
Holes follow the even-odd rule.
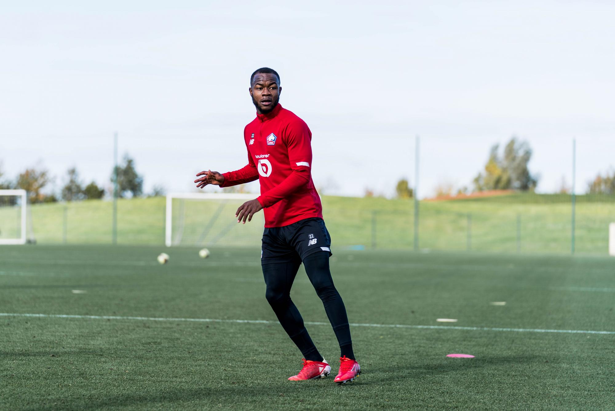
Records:
[[[242,204],[235,217],[237,223],[245,224],[264,209],[261,266],[267,285],[265,297],[304,356],[303,369],[288,380],[324,378],[331,372],[290,299],[290,288],[303,261],[338,338],[341,353],[335,382],[352,381],[361,368],[352,352],[346,308],[329,270],[331,238],[311,177],[312,133],[303,120],[280,105],[282,87],[275,70],[264,67],[252,73],[249,90],[256,118],[244,129],[247,166],[224,174],[202,171],[197,174],[202,177],[194,182],[203,188],[208,184],[229,187],[260,180],[261,195]]]

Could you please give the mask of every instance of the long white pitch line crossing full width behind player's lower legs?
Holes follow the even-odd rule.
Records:
[[[188,321],[188,322],[232,322],[247,324],[280,324],[277,321],[268,320],[223,320],[211,318],[157,318],[157,317],[120,317],[120,316],[79,316],[71,314],[23,314],[23,313],[0,313],[0,317],[44,317],[44,318],[84,318],[102,320],[138,320],[138,321]],[[308,325],[330,325],[328,322],[309,322]],[[495,327],[452,327],[447,325],[404,325],[404,324],[360,324],[351,323],[352,327],[380,327],[380,328],[405,328],[405,329],[428,329],[428,330],[468,330],[468,331],[509,331],[509,332],[550,332],[566,334],[609,334],[615,335],[615,331],[591,331],[591,330],[543,330],[523,328],[495,328]]]

